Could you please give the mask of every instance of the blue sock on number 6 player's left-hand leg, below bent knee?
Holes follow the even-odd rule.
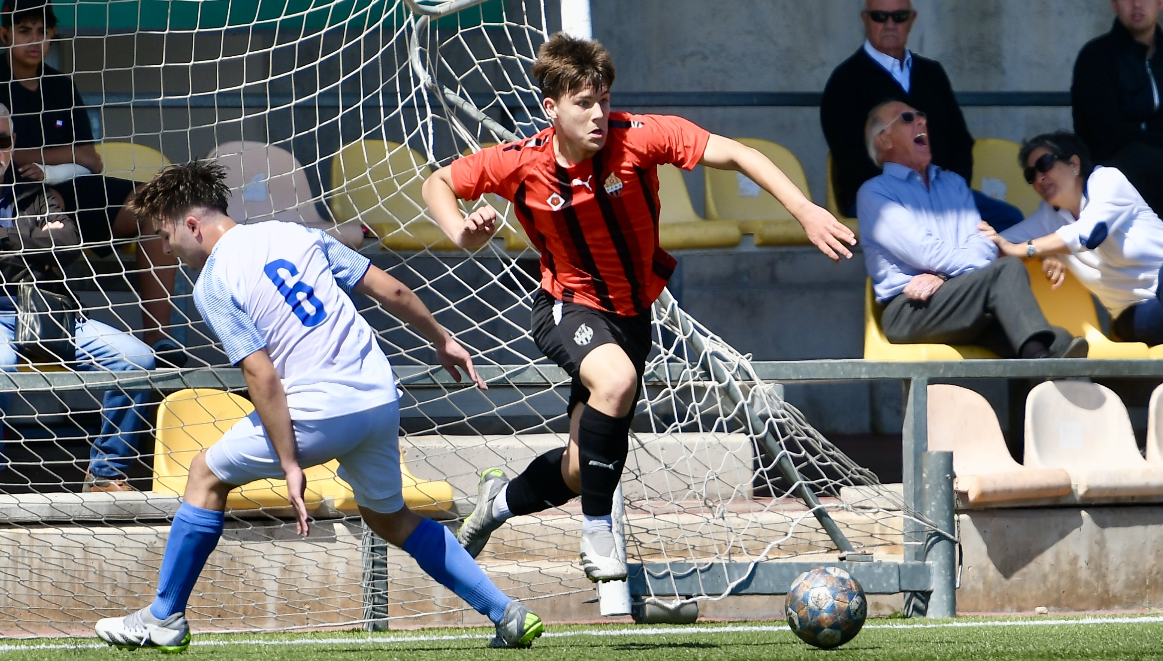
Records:
[[[226,515],[181,503],[165,541],[162,572],[157,582],[157,597],[150,604],[154,617],[165,619],[186,610],[190,592],[202,573],[206,559],[222,537]]]

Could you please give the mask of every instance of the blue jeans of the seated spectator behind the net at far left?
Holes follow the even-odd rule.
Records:
[[[0,369],[16,371],[16,314],[0,311]],[[136,337],[92,319],[77,319],[78,372],[130,372],[154,369],[154,352]],[[107,480],[123,479],[138,455],[142,430],[148,429],[149,390],[107,390],[101,398],[101,434],[90,451],[88,472]],[[0,409],[8,411],[12,393],[0,393]]]

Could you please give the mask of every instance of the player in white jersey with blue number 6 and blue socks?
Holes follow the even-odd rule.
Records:
[[[138,193],[134,213],[154,222],[167,252],[201,270],[194,303],[242,367],[255,412],[191,464],[154,603],[98,622],[97,634],[122,648],[184,651],[186,602],[222,534],[227,494],[285,477],[306,536],[302,468],[338,459],[373,531],[487,616],[497,625],[492,647],[528,647],[544,628],[541,619],[498,590],[448,529],[405,505],[395,379],[344,292],[379,301],[435,344],[457,381],[463,371],[484,389],[469,353],[408,287],[322,231],[278,221],[236,224],[223,178],[213,164],[171,166]]]

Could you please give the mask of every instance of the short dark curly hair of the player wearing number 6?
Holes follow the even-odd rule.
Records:
[[[158,172],[129,202],[129,210],[155,224],[172,224],[191,209],[212,209],[226,215],[229,204],[226,168],[211,160],[191,160]]]

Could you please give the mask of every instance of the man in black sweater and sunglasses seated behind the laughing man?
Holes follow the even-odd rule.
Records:
[[[820,102],[820,123],[832,150],[832,181],[840,210],[856,215],[856,192],[880,168],[869,159],[864,121],[878,103],[902,101],[926,113],[932,127],[933,161],[973,178],[973,136],[954,96],[944,69],[907,48],[908,31],[916,21],[911,0],[866,0],[864,45],[846,59],[828,79]],[[996,228],[1021,222],[1016,207],[972,191],[982,217]]]

